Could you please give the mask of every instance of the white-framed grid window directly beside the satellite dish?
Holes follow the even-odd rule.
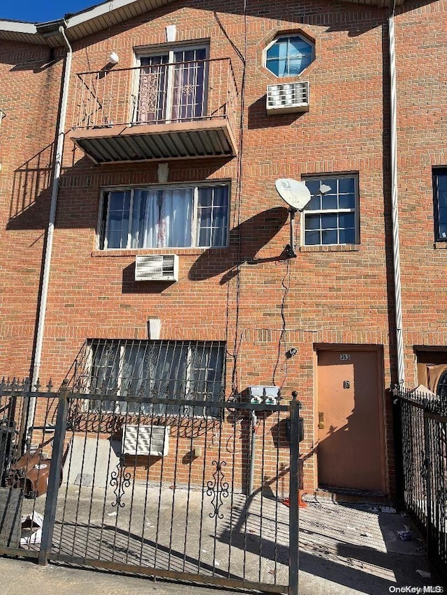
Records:
[[[303,181],[312,196],[301,216],[303,245],[359,243],[358,176],[321,176]]]

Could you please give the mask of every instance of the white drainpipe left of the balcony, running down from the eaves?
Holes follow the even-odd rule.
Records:
[[[73,57],[73,50],[71,49],[70,43],[65,35],[64,27],[60,26],[58,29],[64,43],[67,48],[65,66],[64,66],[64,83],[62,87],[61,96],[61,111],[59,114],[59,121],[57,123],[57,146],[56,146],[56,159],[54,162],[54,176],[52,183],[51,193],[51,204],[50,204],[50,218],[48,220],[47,228],[47,242],[45,248],[45,262],[43,264],[43,278],[42,278],[42,292],[41,301],[39,304],[38,313],[38,324],[37,324],[37,335],[36,335],[36,350],[34,352],[34,366],[33,374],[31,379],[31,390],[36,385],[41,370],[41,356],[42,356],[42,345],[43,345],[43,332],[45,329],[45,314],[47,310],[47,296],[48,296],[48,285],[50,282],[50,265],[51,255],[53,246],[53,234],[54,234],[54,221],[56,219],[56,206],[57,206],[57,194],[59,191],[59,179],[61,176],[61,165],[62,165],[62,152],[64,150],[64,137],[65,137],[65,121],[68,103],[68,86],[70,84],[70,73],[71,73],[71,59]],[[34,412],[36,410],[36,398],[31,398],[29,402],[29,410],[27,416],[27,432],[31,425],[34,423]]]

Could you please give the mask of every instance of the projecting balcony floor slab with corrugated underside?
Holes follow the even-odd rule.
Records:
[[[94,163],[129,163],[234,157],[236,142],[226,118],[163,124],[104,126],[70,134]]]

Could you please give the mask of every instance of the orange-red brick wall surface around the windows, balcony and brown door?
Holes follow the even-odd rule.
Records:
[[[411,333],[406,348],[410,376],[413,345],[423,344],[426,331],[444,333],[445,328],[440,299],[444,252],[433,247],[431,189],[432,165],[445,163],[441,83],[446,47],[437,33],[443,17],[442,2],[423,9],[406,4],[396,17],[402,283],[405,330]],[[133,66],[133,48],[164,43],[168,24],[176,24],[178,41],[210,39],[211,57],[230,57],[241,91],[242,60],[237,54],[245,57],[239,158],[173,161],[168,178],[230,181],[230,247],[205,253],[178,250],[178,283],[163,288],[135,284],[135,253],[96,250],[101,188],[156,183],[157,164],[96,166],[67,138],[42,376],[60,382],[86,338],[147,338],[149,317],[161,319],[163,338],[227,340],[227,392],[232,383],[242,390],[275,382],[286,398],[298,390],[305,412],[303,456],[309,489],[316,485],[315,346],[383,345],[383,389],[394,379],[387,12],[355,4],[340,8],[261,0],[249,7],[244,20],[240,3],[233,1],[225,6],[209,2],[206,9],[201,2],[173,4],[74,43],[73,73],[100,70],[112,50],[119,54],[119,68]],[[267,116],[266,86],[277,79],[262,66],[263,47],[290,31],[315,41],[316,60],[301,77],[310,83],[311,107],[307,114]],[[44,50],[10,44],[3,51],[10,57],[1,61],[2,76],[18,88],[26,86],[29,93],[27,101],[8,93],[0,149],[6,246],[1,266],[7,271],[2,274],[0,324],[8,346],[0,363],[6,373],[17,375],[27,373],[34,337],[61,61],[37,72],[35,67],[20,70],[20,52],[43,60]],[[73,75],[72,98],[74,86]],[[69,101],[68,123],[76,109]],[[42,113],[45,119],[39,117]],[[30,138],[22,133],[25,118]],[[334,172],[358,174],[360,246],[302,248],[287,264],[280,257],[289,240],[287,212],[274,180]],[[296,234],[299,243],[298,218]],[[247,264],[254,258],[258,264]],[[283,326],[291,332],[281,333]],[[444,335],[432,340],[445,344]],[[297,347],[298,354],[286,363],[284,352],[290,347]],[[385,401],[383,396],[391,469]]]

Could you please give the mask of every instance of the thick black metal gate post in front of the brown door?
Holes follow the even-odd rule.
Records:
[[[298,595],[298,463],[300,443],[298,425],[300,423],[300,402],[298,393],[292,392],[289,403],[291,412],[290,442],[290,486],[288,494],[288,594]]]

